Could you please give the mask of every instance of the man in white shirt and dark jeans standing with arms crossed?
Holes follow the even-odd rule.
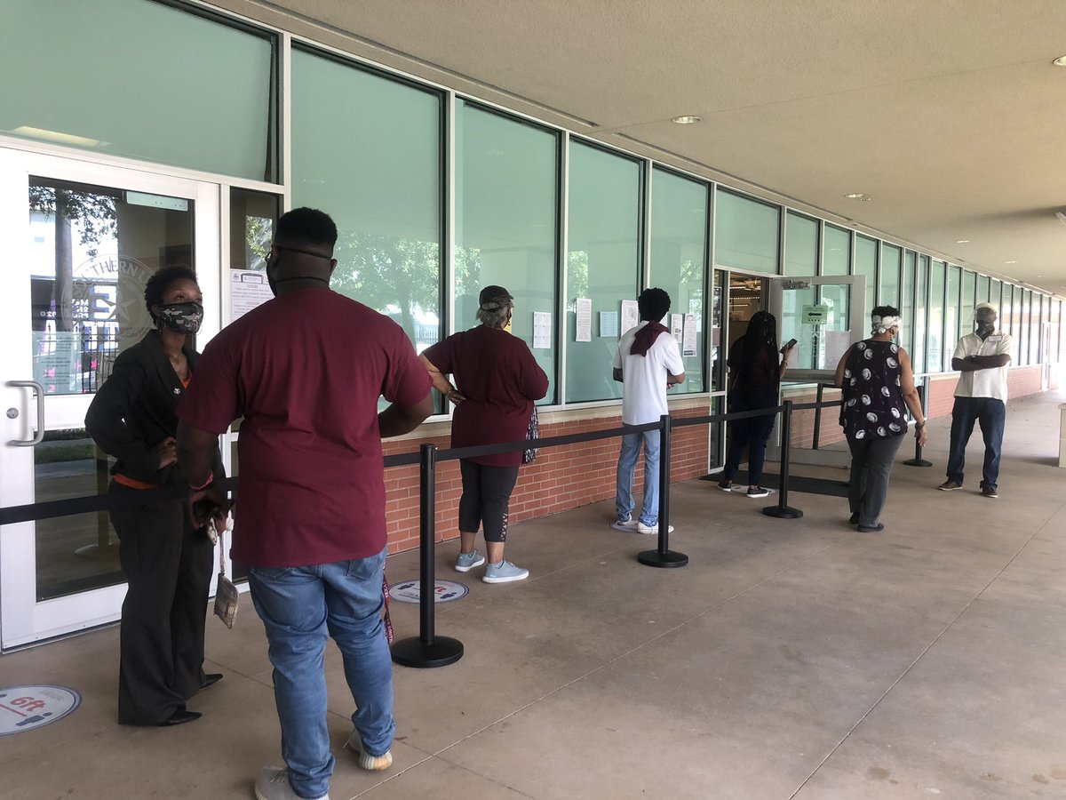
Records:
[[[1006,420],[1006,372],[1011,363],[1011,336],[996,330],[996,306],[979,303],[973,309],[976,331],[967,334],[955,346],[951,368],[962,372],[955,387],[955,405],[951,411],[951,451],[948,454],[948,480],[938,489],[950,492],[963,487],[963,466],[966,444],[973,433],[973,423],[981,423],[985,439],[985,463],[981,494],[999,497],[1000,448]]]

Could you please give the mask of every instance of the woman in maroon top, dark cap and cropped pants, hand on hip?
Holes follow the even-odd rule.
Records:
[[[481,325],[449,336],[420,356],[434,387],[455,403],[452,447],[522,441],[533,401],[548,393],[548,375],[537,366],[529,347],[503,330],[511,321],[513,301],[502,286],[486,286],[478,298]],[[454,386],[449,374],[455,379]],[[488,555],[482,580],[505,583],[529,577],[529,570],[503,560],[507,508],[521,462],[521,450],[459,460],[463,497],[461,551],[455,561],[458,572],[485,563],[485,557],[474,549],[481,526]]]

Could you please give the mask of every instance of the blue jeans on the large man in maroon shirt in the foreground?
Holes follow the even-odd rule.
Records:
[[[322,657],[332,636],[344,659],[352,715],[364,750],[383,755],[392,745],[392,659],[382,608],[383,549],[376,556],[314,566],[253,567],[252,602],[266,628],[281,755],[300,797],[329,791],[334,757],[326,726]]]

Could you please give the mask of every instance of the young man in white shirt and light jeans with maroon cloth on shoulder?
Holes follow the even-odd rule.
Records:
[[[624,425],[658,422],[668,414],[666,389],[684,381],[684,363],[666,326],[659,320],[669,311],[669,294],[662,289],[645,289],[636,300],[641,323],[618,340],[614,354],[614,380],[623,385]],[[632,518],[633,473],[644,442],[644,502],[639,518]],[[618,477],[614,501],[618,530],[659,532],[659,431],[628,433],[621,437]],[[673,526],[671,526],[673,527]]]

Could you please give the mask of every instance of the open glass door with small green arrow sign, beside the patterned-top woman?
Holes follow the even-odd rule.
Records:
[[[849,347],[865,335],[868,320],[866,277],[824,275],[770,278],[769,305],[778,320],[781,347],[796,340],[785,380],[782,398],[796,403],[833,400],[837,364]],[[851,455],[844,443],[835,407],[808,409],[792,418],[791,459],[796,463],[844,466]],[[768,455],[780,458],[779,436]]]

